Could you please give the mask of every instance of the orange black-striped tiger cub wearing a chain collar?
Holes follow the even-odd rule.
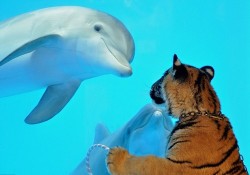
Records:
[[[173,67],[150,92],[155,103],[165,103],[179,118],[166,146],[166,158],[137,157],[123,148],[107,156],[112,175],[233,175],[248,174],[232,126],[220,110],[210,81],[214,69],[182,64],[174,55]]]

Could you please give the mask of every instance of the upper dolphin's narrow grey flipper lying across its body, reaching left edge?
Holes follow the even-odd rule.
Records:
[[[60,35],[51,34],[51,35],[42,36],[42,37],[39,37],[39,38],[37,38],[35,40],[29,41],[29,42],[25,43],[24,45],[22,45],[21,47],[14,50],[13,52],[11,52],[5,58],[3,58],[0,61],[0,66],[2,66],[4,64],[6,64],[7,62],[13,60],[14,58],[17,58],[17,57],[19,57],[21,55],[30,53],[30,52],[36,50],[37,48],[39,48],[41,46],[44,46],[44,45],[52,43],[52,42],[54,43],[54,42],[58,41],[59,39],[60,39]]]

